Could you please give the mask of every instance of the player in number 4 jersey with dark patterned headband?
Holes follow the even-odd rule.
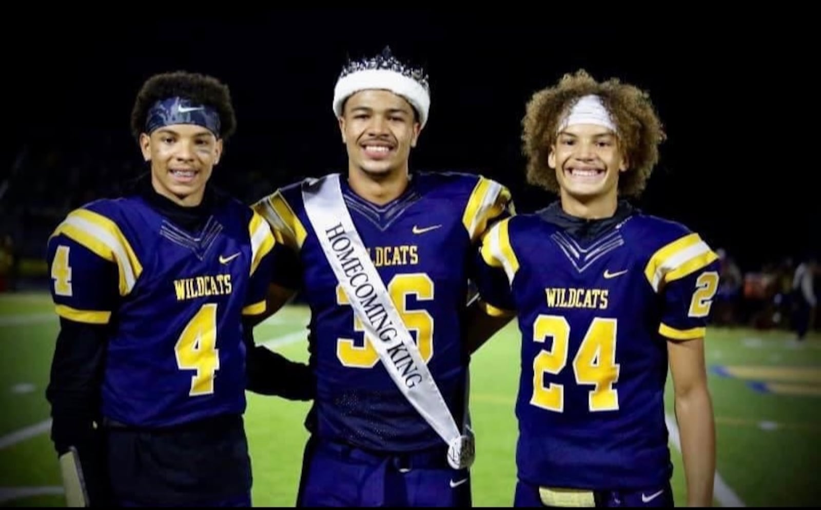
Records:
[[[209,185],[236,128],[229,90],[154,75],[131,128],[149,174],[48,239],[60,332],[47,397],[67,503],[250,506],[245,388],[307,399],[311,376],[245,344],[277,247],[262,216]],[[246,354],[259,354],[250,380]]]

